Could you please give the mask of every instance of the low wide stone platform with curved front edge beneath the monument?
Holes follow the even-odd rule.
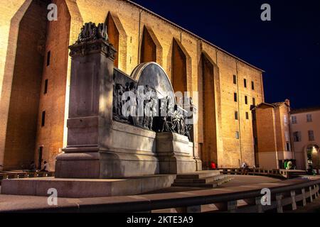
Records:
[[[151,175],[126,179],[65,179],[39,177],[3,179],[1,194],[48,196],[48,189],[57,189],[60,198],[93,198],[126,196],[171,187],[176,175]]]

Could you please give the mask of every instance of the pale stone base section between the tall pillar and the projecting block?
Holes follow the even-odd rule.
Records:
[[[156,133],[114,121],[110,144],[100,150],[100,177],[159,174]]]

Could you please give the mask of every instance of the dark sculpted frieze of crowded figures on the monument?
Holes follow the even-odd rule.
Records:
[[[132,95],[124,95],[125,92]],[[186,111],[169,97],[158,99],[156,91],[148,86],[141,94],[133,82],[124,86],[114,83],[113,119],[155,132],[186,135],[191,140],[192,125],[186,123]]]

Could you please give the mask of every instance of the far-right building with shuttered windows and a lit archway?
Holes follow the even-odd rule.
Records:
[[[297,168],[320,169],[320,107],[294,109],[290,114]]]

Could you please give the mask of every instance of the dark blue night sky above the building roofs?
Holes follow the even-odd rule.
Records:
[[[320,1],[133,0],[265,70],[265,101],[320,106]],[[262,4],[272,21],[261,21]]]

